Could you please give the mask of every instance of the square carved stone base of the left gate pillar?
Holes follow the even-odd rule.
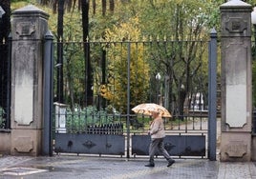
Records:
[[[38,156],[42,149],[41,129],[12,129],[11,155]]]

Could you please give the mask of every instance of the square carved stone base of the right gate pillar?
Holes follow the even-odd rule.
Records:
[[[222,132],[222,162],[248,162],[251,159],[251,133],[246,131]]]

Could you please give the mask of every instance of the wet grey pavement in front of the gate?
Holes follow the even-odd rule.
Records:
[[[2,179],[256,179],[252,162],[221,163],[207,159],[175,159],[167,168],[165,159],[159,157],[155,168],[144,167],[147,158],[121,158],[99,156],[54,155],[53,157],[2,156]]]

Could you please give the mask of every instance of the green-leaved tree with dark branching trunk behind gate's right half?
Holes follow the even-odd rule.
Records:
[[[155,39],[158,37],[163,39],[166,34],[170,34],[166,39],[174,42],[171,49],[152,51],[152,59],[157,62],[156,69],[162,71],[164,76],[168,76],[170,88],[167,92],[166,108],[181,116],[185,99],[195,92],[192,88],[193,84],[202,83],[194,79],[199,77],[203,79],[203,75],[204,78],[206,77],[206,73],[199,75],[198,72],[207,67],[205,53],[207,46],[203,45],[202,40],[208,39],[209,26],[215,22],[214,15],[219,7],[214,5],[216,5],[214,1],[205,3],[203,0],[172,2],[160,0],[150,1],[145,6],[141,7],[141,4],[139,7],[143,8],[139,13],[139,18],[143,19],[142,33],[151,34]],[[211,13],[213,7],[215,7],[214,14]],[[203,91],[207,90],[205,85],[201,88]]]

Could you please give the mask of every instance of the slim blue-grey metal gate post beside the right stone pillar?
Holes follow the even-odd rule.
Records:
[[[211,161],[216,160],[216,126],[217,126],[217,31],[210,31],[209,42],[209,63],[208,63],[208,158]]]

